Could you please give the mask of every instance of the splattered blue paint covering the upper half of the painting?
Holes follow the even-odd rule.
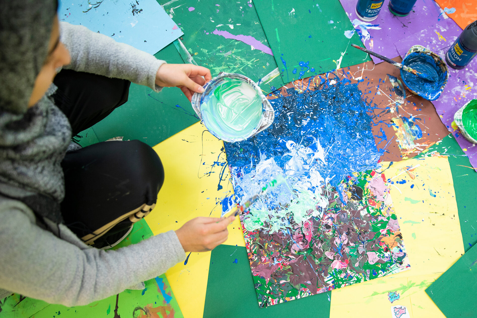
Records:
[[[303,87],[303,92],[289,88],[285,96],[280,91],[274,92],[277,98],[270,103],[275,120],[270,127],[248,140],[225,144],[232,174],[250,173],[261,157],[273,158],[284,168],[290,160],[287,154],[291,143],[317,152],[317,141],[324,150],[325,160],[311,162],[310,156],[309,164],[315,165],[321,177],[340,190],[344,186],[342,180],[352,178],[353,172],[377,168],[384,149],[378,149],[374,142],[372,119],[367,113],[370,106],[364,103],[357,84],[346,77],[332,76],[332,73],[327,73],[326,78],[320,76],[321,83],[314,91]],[[332,79],[336,84],[330,83]],[[296,173],[306,176],[309,169]],[[241,189],[234,188],[234,192],[240,200]]]

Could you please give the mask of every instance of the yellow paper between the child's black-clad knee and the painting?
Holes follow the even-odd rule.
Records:
[[[226,162],[223,141],[195,123],[153,149],[165,173],[156,207],[145,217],[153,234],[176,230],[197,216],[220,217],[221,199],[233,194],[228,166],[220,165]],[[239,218],[228,232],[224,244],[245,246]],[[210,252],[191,253],[187,265],[179,263],[166,272],[185,318],[203,316],[209,262]]]

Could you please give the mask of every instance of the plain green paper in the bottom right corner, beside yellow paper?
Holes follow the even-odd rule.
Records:
[[[470,248],[425,292],[447,318],[477,317],[477,246]]]

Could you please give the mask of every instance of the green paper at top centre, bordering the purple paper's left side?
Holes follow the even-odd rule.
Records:
[[[254,0],[283,82],[371,61],[340,1]],[[184,31],[185,33],[185,31]],[[302,72],[302,73],[300,73]]]

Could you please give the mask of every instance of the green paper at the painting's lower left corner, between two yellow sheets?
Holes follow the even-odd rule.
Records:
[[[296,317],[305,312],[329,318],[330,304],[331,291],[259,308],[246,248],[222,244],[212,250],[204,318]]]

